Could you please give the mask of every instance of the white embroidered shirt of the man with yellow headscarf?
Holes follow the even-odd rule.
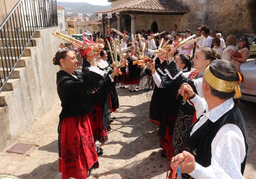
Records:
[[[197,112],[203,113],[206,110],[206,113],[203,113],[198,123],[193,126],[190,136],[208,119],[214,123],[234,107],[232,98],[210,111],[204,98],[196,95],[191,102],[194,103]],[[246,156],[246,147],[243,133],[238,126],[235,124],[222,126],[214,137],[211,148],[211,165],[205,168],[196,163],[196,168],[189,173],[191,177],[194,179],[243,179],[240,168]]]

